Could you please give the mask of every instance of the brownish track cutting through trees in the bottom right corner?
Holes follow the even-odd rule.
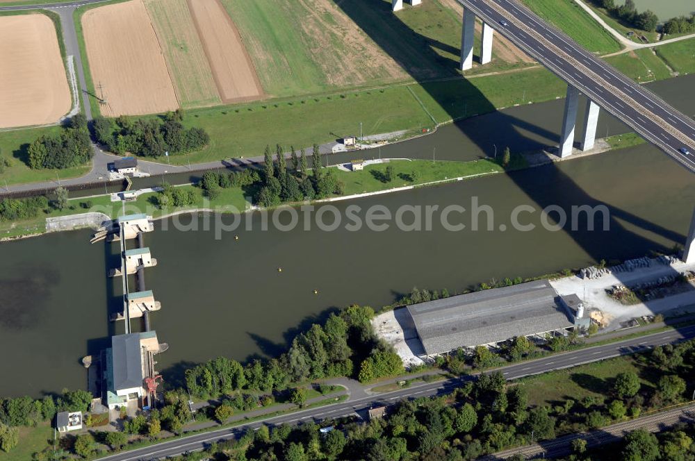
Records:
[[[587,448],[619,442],[633,430],[644,428],[650,432],[660,432],[664,428],[675,426],[680,422],[692,422],[695,416],[695,405],[675,408],[665,412],[657,412],[648,416],[632,419],[623,423],[614,424],[587,433],[569,434],[557,439],[540,442],[538,444],[520,446],[516,449],[500,451],[494,455],[484,456],[481,461],[504,460],[521,454],[525,460],[533,458],[559,458],[572,453],[571,443],[575,439],[587,441]]]

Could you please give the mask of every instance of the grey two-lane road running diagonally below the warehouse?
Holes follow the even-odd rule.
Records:
[[[507,380],[513,380],[523,376],[541,374],[556,369],[575,367],[578,364],[595,362],[596,360],[604,360],[607,358],[617,357],[619,355],[644,351],[649,347],[660,344],[668,344],[671,342],[678,342],[680,340],[690,339],[693,337],[695,337],[695,326],[689,326],[680,328],[679,330],[669,330],[662,333],[638,337],[632,340],[625,340],[613,344],[605,344],[603,346],[582,349],[580,351],[557,354],[530,362],[521,362],[518,364],[509,365],[508,367],[503,367],[500,369],[500,371],[502,374],[504,374]],[[372,405],[389,405],[403,399],[449,394],[457,387],[460,387],[462,383],[473,379],[475,379],[475,375],[463,376],[461,378],[438,381],[436,383],[423,383],[393,392],[384,392],[382,394],[370,396],[356,397],[356,393],[353,391],[351,392],[350,399],[341,403],[334,403],[332,405],[325,405],[319,408],[311,408],[309,410],[283,414],[277,417],[263,419],[254,423],[238,426],[236,428],[225,428],[208,433],[170,439],[166,442],[162,442],[161,444],[156,444],[133,451],[126,451],[124,453],[117,453],[101,459],[108,461],[149,461],[161,459],[167,456],[179,455],[181,453],[185,453],[186,451],[204,449],[204,447],[212,444],[213,442],[232,439],[247,428],[256,429],[261,426],[261,424],[300,424],[308,421],[321,421],[323,419],[346,417],[355,413],[363,414],[363,412],[365,412]]]

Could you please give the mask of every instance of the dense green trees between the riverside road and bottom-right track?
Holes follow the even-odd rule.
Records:
[[[521,350],[525,344],[515,344]],[[664,360],[664,356],[669,360]],[[473,460],[511,446],[553,439],[565,433],[599,428],[637,417],[643,409],[662,408],[685,400],[686,378],[692,378],[695,342],[657,348],[641,355],[655,378],[655,387],[642,386],[635,371],[614,378],[605,396],[567,399],[553,405],[529,405],[526,385],[507,383],[499,372],[482,374],[452,396],[402,401],[383,419],[366,423],[354,419],[327,421],[320,426],[264,427],[249,430],[236,442],[213,447],[202,458],[224,453],[225,459],[244,460]],[[651,378],[650,378],[651,379]],[[608,455],[635,461],[694,460],[692,426],[651,435],[643,430],[610,446]],[[573,442],[573,461],[589,461],[586,444]],[[603,458],[595,458],[603,459]]]

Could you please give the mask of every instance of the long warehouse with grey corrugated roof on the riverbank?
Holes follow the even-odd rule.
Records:
[[[409,305],[425,355],[437,355],[516,336],[541,335],[575,325],[575,312],[548,280],[483,290]]]

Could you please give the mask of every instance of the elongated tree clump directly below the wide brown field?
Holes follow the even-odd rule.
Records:
[[[183,112],[167,112],[163,119],[133,119],[122,115],[116,119],[98,117],[94,121],[95,137],[114,153],[133,153],[142,157],[161,157],[198,151],[210,142],[202,128],[185,128]]]

